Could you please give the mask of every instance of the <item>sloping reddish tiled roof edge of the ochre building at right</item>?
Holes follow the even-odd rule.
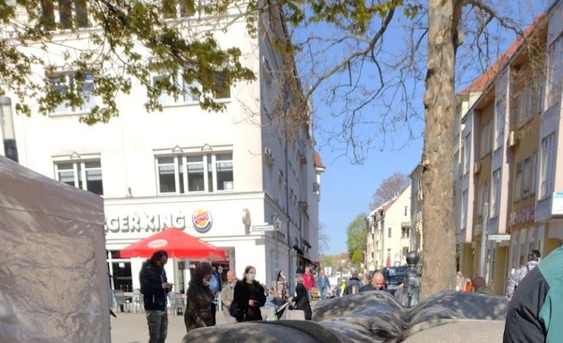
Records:
[[[499,71],[501,71],[502,68],[504,68],[504,66],[507,65],[508,60],[517,52],[518,49],[520,49],[520,47],[524,45],[525,38],[529,38],[532,35],[532,33],[534,33],[534,29],[536,29],[538,23],[542,21],[545,17],[546,17],[545,13],[536,17],[532,22],[532,24],[530,24],[530,26],[528,26],[522,33],[523,37],[522,36],[518,37],[517,40],[514,43],[512,43],[511,46],[508,47],[507,51],[505,51],[505,53],[502,54],[500,58],[491,65],[491,67],[489,67],[489,69],[483,72],[483,74],[481,74],[479,78],[475,79],[473,83],[471,83],[466,88],[462,89],[458,94],[464,95],[472,92],[479,92],[487,88],[487,86],[489,86],[489,84],[491,84],[492,81],[496,79],[497,75],[499,74]]]

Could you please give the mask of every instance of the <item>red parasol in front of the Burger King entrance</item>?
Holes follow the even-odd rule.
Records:
[[[169,257],[179,258],[225,258],[224,250],[214,247],[182,230],[171,228],[143,238],[124,247],[122,257],[150,257],[157,250],[165,250]]]

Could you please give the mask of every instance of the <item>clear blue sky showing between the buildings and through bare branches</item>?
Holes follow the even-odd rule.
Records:
[[[533,8],[533,10],[522,10],[522,8],[519,8],[518,6],[515,7],[514,4],[512,4],[512,1],[501,1],[497,5],[499,8],[508,8],[508,11],[511,11],[511,18],[521,24],[527,25],[532,21],[532,18],[541,13],[542,9],[546,8],[547,5],[551,3],[551,0],[522,0],[521,3],[522,8]],[[324,32],[325,37],[332,38],[332,32],[327,28],[319,30],[318,27],[309,27],[309,32],[305,33],[308,36],[311,36],[311,31],[315,30],[316,32]],[[499,30],[496,29],[492,29],[492,31],[499,32]],[[397,32],[398,31],[395,32],[395,36],[397,36]],[[301,32],[299,36],[307,37],[307,35],[303,35],[303,32]],[[515,38],[516,36],[513,32],[503,34],[502,38],[495,42],[496,55],[498,56],[499,54],[502,54]],[[389,46],[386,51],[383,51],[383,54],[385,54],[386,57],[391,57],[392,59],[397,57],[396,55],[392,56],[391,54],[393,54],[392,50],[394,48],[400,49],[400,46],[398,46],[398,44],[400,44],[400,40],[393,38],[393,36],[391,36],[390,40],[391,46]],[[346,49],[342,49],[341,46],[339,48],[340,51],[328,54],[329,59],[326,59],[318,64],[315,61],[311,65],[315,65],[315,68],[319,68],[323,67],[323,64],[330,64],[330,59],[338,60],[339,53],[346,53]],[[458,54],[466,54],[466,57],[469,57],[468,61],[471,63],[471,56],[469,52],[471,52],[472,47],[465,46],[465,50],[463,49],[464,46],[458,50]],[[422,56],[422,58],[421,56],[418,57],[420,58],[420,62],[424,63],[424,56]],[[493,53],[491,57],[492,63],[496,59],[496,56]],[[308,63],[311,63],[311,61]],[[469,71],[458,73],[458,76],[461,75],[460,78],[463,78],[457,80],[458,89],[465,88],[472,79],[475,79],[480,72],[487,67],[483,64],[478,66],[475,65],[475,70],[473,70],[474,63],[471,63]],[[305,64],[307,64],[307,62]],[[303,71],[305,64],[301,64],[301,71]],[[307,67],[305,66],[305,68]],[[303,74],[301,73],[301,75]],[[340,78],[341,82],[342,78],[344,78],[346,81],[347,76],[347,74],[344,74],[344,76],[340,75],[336,79]],[[373,83],[373,75],[361,79],[361,82],[367,82],[366,84],[368,85]],[[335,96],[332,94],[332,97],[335,100],[332,99],[331,104],[327,105],[326,100],[321,101],[323,96],[324,99],[326,99],[326,88],[323,91],[324,93],[321,92],[323,95],[316,95],[313,98],[316,125],[315,140],[317,141],[316,149],[321,154],[326,167],[326,171],[324,172],[321,181],[319,222],[323,228],[322,230],[324,234],[329,238],[328,247],[324,249],[323,253],[324,255],[333,255],[347,251],[346,228],[348,227],[349,222],[352,222],[356,218],[358,213],[367,213],[369,211],[369,203],[382,180],[387,179],[395,172],[402,172],[409,175],[410,172],[415,169],[422,154],[422,128],[424,124],[420,119],[416,118],[414,121],[410,121],[411,123],[408,125],[410,126],[410,129],[414,130],[415,138],[409,139],[408,143],[405,143],[407,140],[404,137],[401,137],[407,134],[405,123],[391,121],[393,125],[398,126],[395,132],[387,132],[385,134],[376,132],[376,130],[378,130],[377,125],[374,125],[374,122],[371,122],[370,118],[381,115],[381,113],[385,113],[385,108],[382,108],[384,105],[381,104],[370,105],[369,108],[366,108],[363,112],[365,117],[362,118],[363,121],[360,121],[361,125],[358,125],[359,129],[357,130],[359,131],[360,137],[371,139],[372,147],[363,150],[366,157],[364,164],[352,164],[350,163],[350,159],[341,153],[342,149],[346,149],[343,141],[341,139],[340,141],[337,139],[336,141],[328,143],[326,133],[323,132],[325,130],[338,130],[342,121],[341,117],[338,118],[334,116],[335,113],[338,113],[338,107],[341,105],[341,101],[339,102],[338,98],[339,95],[336,94]],[[411,94],[412,97],[410,98],[413,105],[416,107],[415,112],[417,113],[424,113],[422,111],[422,91],[424,91],[424,89],[418,86],[416,92],[413,92]],[[400,106],[400,104],[400,99],[391,102],[391,105]],[[395,112],[397,113],[397,111]],[[394,114],[397,115],[396,113]],[[322,130],[320,128],[322,128]],[[371,132],[370,130],[374,130],[374,132]],[[394,140],[395,142],[391,144],[391,140]],[[398,148],[393,146],[400,147]]]

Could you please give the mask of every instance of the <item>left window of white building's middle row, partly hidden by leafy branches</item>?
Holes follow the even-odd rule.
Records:
[[[76,91],[75,88],[80,87],[80,97],[82,104],[79,106],[71,106],[67,101],[55,107],[51,114],[68,114],[68,113],[83,113],[89,112],[96,106],[96,96],[94,96],[94,75],[86,73],[82,85],[79,86],[80,81],[74,72],[62,72],[55,74],[49,78],[49,82],[53,91],[65,96],[66,92],[70,89]],[[80,78],[81,79],[81,78]]]

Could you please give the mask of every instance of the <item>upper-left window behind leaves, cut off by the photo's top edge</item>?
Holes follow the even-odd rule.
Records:
[[[88,28],[86,0],[41,0],[41,24],[47,31]]]

